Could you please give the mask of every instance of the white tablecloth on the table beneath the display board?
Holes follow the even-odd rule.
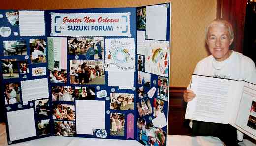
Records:
[[[223,146],[219,138],[205,136],[168,135],[167,146]],[[246,146],[255,146],[244,140]],[[0,146],[8,146],[5,124],[0,124]],[[79,137],[50,136],[9,146],[143,146],[133,140],[91,139]]]

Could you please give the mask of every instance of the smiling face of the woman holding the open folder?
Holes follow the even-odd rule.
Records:
[[[223,24],[213,24],[209,27],[206,43],[217,61],[224,61],[231,55],[229,46],[232,42],[233,39],[230,40],[228,29]]]

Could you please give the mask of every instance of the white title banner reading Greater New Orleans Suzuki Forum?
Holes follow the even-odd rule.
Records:
[[[50,13],[51,36],[128,36],[128,13]]]

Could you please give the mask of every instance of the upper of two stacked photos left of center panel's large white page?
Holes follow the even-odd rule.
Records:
[[[75,121],[75,105],[53,104],[53,119]]]

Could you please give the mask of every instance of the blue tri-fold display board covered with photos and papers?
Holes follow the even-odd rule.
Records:
[[[8,144],[56,135],[166,146],[170,9],[0,10]]]

